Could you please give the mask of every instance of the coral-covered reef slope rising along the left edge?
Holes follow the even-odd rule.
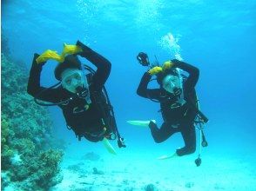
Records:
[[[62,181],[64,152],[54,142],[48,110],[27,94],[26,65],[1,56],[2,190],[48,190]]]

